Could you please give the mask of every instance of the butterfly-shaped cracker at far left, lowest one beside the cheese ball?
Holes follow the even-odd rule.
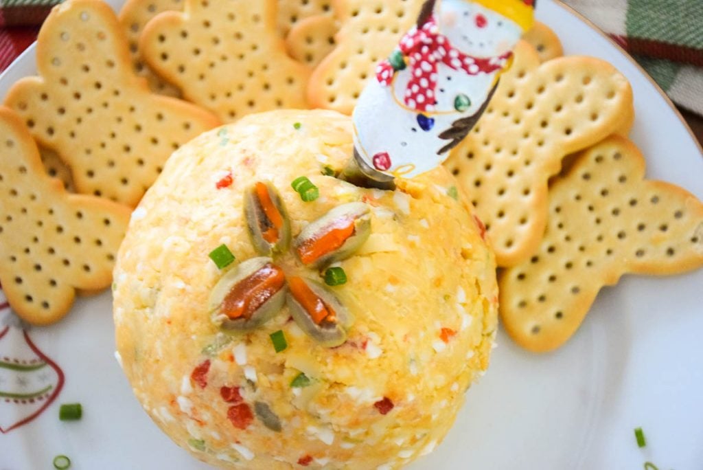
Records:
[[[130,211],[67,193],[44,172],[22,120],[2,106],[0,148],[0,282],[20,317],[50,324],[66,314],[77,288],[110,285]]]

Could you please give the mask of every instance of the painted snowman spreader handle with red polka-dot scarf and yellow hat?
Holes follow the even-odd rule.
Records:
[[[534,0],[428,0],[354,108],[354,150],[372,179],[446,160],[488,106]]]

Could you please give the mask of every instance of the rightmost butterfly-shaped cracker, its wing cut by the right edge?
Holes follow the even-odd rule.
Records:
[[[703,203],[644,175],[638,148],[612,136],[555,179],[539,249],[499,281],[503,326],[523,348],[565,343],[600,288],[623,274],[703,266]]]

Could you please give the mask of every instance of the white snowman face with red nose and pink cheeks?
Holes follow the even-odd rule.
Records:
[[[511,51],[522,36],[517,23],[467,0],[441,2],[439,30],[456,49],[475,57]]]

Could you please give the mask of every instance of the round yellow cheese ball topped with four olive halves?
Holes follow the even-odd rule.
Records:
[[[249,115],[176,151],[134,210],[117,357],[203,462],[400,468],[488,367],[496,265],[455,180],[354,186],[352,154],[344,115]]]

